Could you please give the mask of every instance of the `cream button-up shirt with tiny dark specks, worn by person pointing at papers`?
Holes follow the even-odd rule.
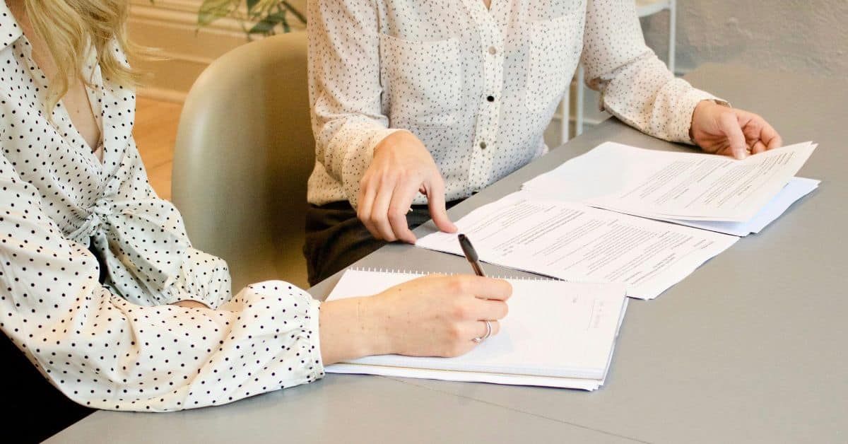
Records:
[[[356,205],[374,146],[399,128],[430,150],[448,200],[516,171],[547,151],[578,61],[602,109],[657,138],[691,143],[695,104],[713,98],[645,46],[633,0],[309,0],[308,12],[315,205]]]

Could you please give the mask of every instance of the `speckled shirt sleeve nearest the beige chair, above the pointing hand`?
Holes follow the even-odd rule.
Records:
[[[356,206],[374,147],[398,131],[382,114],[377,7],[309,0],[309,87],[315,155]]]

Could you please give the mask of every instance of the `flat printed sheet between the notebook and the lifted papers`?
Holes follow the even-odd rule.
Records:
[[[655,298],[739,240],[523,190],[455,224],[481,261],[573,282],[627,284],[628,296],[639,299]],[[462,255],[456,236],[432,233],[416,246]]]

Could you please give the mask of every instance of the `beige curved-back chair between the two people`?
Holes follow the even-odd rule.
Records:
[[[226,53],[188,93],[172,198],[195,248],[229,264],[233,291],[265,279],[306,285],[301,249],[314,146],[305,32]]]

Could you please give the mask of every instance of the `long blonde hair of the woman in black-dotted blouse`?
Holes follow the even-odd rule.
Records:
[[[71,81],[91,79],[82,76],[89,48],[98,54],[103,78],[122,87],[135,87],[141,75],[115,52],[115,42],[129,60],[144,48],[126,37],[127,0],[25,0],[32,28],[41,37],[56,65],[56,76],[47,88],[47,110],[59,103]],[[90,85],[89,85],[90,86]]]

